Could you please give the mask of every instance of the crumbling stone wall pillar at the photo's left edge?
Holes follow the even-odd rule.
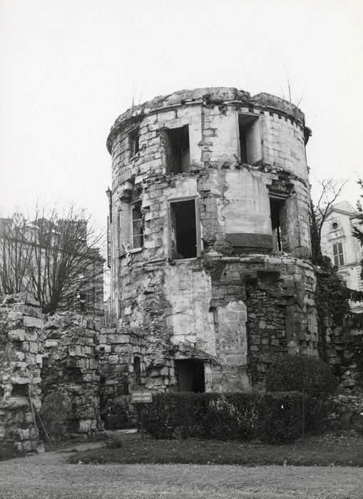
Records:
[[[39,304],[29,295],[0,304],[0,446],[11,442],[23,453],[36,451],[31,412],[41,406],[41,328]]]

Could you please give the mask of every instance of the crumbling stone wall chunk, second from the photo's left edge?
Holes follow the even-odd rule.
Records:
[[[53,436],[88,434],[101,427],[96,345],[90,319],[61,312],[43,327],[41,416]]]

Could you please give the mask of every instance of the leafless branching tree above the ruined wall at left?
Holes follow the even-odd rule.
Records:
[[[17,240],[10,233],[4,236],[1,242],[6,251],[1,260],[16,268],[13,255]],[[14,292],[34,292],[45,313],[69,308],[94,312],[96,302],[102,302],[104,259],[99,246],[103,235],[89,217],[73,206],[62,215],[56,208],[50,212],[37,208],[31,224],[24,224],[19,239],[26,259]],[[4,292],[10,290],[4,287]]]

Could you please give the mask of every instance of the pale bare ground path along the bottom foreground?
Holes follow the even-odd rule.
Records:
[[[71,465],[68,455],[2,461],[0,498],[363,498],[362,468]]]

